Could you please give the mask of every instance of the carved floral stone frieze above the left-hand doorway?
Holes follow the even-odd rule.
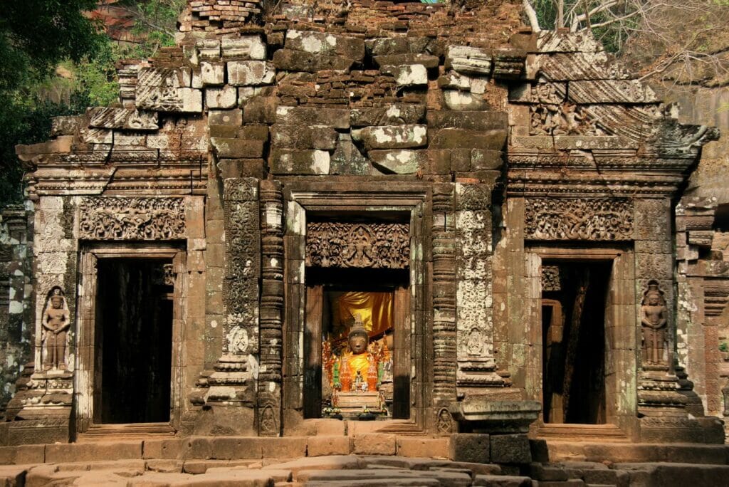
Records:
[[[183,198],[83,198],[79,238],[173,240],[186,238]]]

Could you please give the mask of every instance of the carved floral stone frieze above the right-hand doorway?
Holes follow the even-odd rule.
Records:
[[[533,240],[622,241],[633,238],[626,198],[527,198],[525,236]]]

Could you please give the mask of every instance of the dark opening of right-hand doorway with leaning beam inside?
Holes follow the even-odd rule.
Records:
[[[551,276],[542,289],[544,421],[604,424],[612,262],[544,261],[542,269]]]

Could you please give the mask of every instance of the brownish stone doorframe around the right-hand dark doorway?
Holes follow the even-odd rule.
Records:
[[[628,246],[584,247],[570,245],[526,246],[526,274],[529,282],[529,319],[526,336],[533,343],[531,366],[526,367],[526,390],[532,400],[542,400],[542,261],[612,262],[605,303],[605,394],[606,424],[585,426],[582,434],[631,437],[636,433],[636,367],[639,365],[640,337],[636,326],[634,254]],[[540,419],[540,422],[543,420]],[[542,423],[543,424],[543,423]],[[581,425],[548,424],[539,434],[574,433]],[[619,430],[618,430],[619,429]]]

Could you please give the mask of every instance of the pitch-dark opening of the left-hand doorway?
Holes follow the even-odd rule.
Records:
[[[100,259],[94,422],[170,421],[171,260]]]

